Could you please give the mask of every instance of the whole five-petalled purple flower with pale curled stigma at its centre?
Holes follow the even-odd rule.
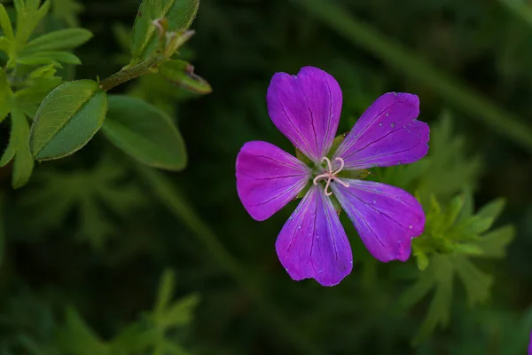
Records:
[[[331,75],[316,67],[303,67],[298,75],[277,73],[266,99],[273,124],[312,164],[270,143],[247,142],[237,157],[237,190],[251,217],[263,221],[309,186],[276,242],[292,279],[333,286],[353,268],[331,194],[375,258],[406,261],[412,238],[425,227],[421,205],[397,187],[349,178],[348,172],[408,164],[426,155],[429,129],[416,120],[418,97],[382,95],[334,152],[342,94]]]

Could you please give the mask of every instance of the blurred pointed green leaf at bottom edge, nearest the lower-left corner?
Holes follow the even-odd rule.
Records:
[[[59,343],[72,355],[105,355],[109,350],[73,308],[66,310],[66,324],[59,331]]]

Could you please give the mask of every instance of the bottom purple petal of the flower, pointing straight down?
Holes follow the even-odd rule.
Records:
[[[348,237],[321,185],[313,185],[293,211],[275,248],[293,280],[312,278],[333,286],[353,268]]]

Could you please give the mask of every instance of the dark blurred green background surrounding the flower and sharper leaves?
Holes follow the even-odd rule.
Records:
[[[53,4],[45,28],[94,34],[76,50],[83,65],[66,67],[66,77],[104,78],[127,63],[138,1]],[[11,188],[11,167],[0,169],[0,354],[108,353],[124,329],[151,327],[146,312],[165,270],[176,275],[173,299],[197,296],[195,309],[180,305],[190,314],[172,320],[176,346],[138,351],[141,337],[125,332],[121,342],[133,350],[115,353],[524,353],[532,328],[532,3],[202,0],[192,29],[182,54],[211,94],[195,97],[152,76],[113,90],[172,114],[189,154],[183,172],[139,173],[99,135],[71,157],[37,164],[20,190]],[[262,223],[239,202],[234,166],[246,141],[293,151],[270,122],[265,93],[271,75],[304,66],[340,83],[339,132],[384,92],[418,94],[419,119],[433,131],[447,117],[439,153],[461,164],[440,170],[429,193],[445,201],[467,187],[477,209],[507,202],[497,225],[514,225],[515,238],[504,258],[478,263],[494,277],[490,296],[473,307],[455,282],[448,327],[415,346],[430,297],[395,307],[412,284],[413,257],[378,264],[347,222],[352,274],[334,288],[295,282],[274,248],[295,202]]]

